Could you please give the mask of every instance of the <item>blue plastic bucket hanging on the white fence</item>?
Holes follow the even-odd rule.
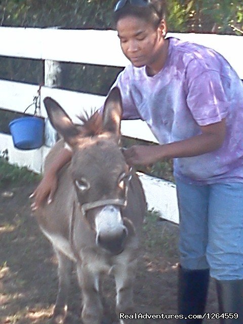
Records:
[[[30,116],[14,119],[9,124],[14,146],[20,150],[32,150],[44,144],[45,121],[41,117]]]

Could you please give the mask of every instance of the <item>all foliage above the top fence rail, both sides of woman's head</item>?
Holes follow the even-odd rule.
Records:
[[[243,33],[242,0],[161,0],[170,31]],[[2,0],[2,26],[112,28],[114,0]]]

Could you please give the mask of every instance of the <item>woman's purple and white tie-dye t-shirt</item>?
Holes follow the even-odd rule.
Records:
[[[142,119],[160,144],[201,134],[199,126],[226,119],[221,148],[174,159],[174,174],[195,184],[243,181],[243,84],[229,63],[204,46],[169,38],[165,66],[154,76],[131,64],[114,84],[123,119]]]

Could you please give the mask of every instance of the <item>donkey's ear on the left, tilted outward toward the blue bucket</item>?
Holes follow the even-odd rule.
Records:
[[[63,110],[63,108],[52,98],[46,97],[44,105],[47,110],[52,126],[63,136],[64,140],[71,146],[75,144],[79,134],[77,127]]]

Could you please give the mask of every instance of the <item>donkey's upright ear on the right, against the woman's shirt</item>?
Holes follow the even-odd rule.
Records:
[[[120,91],[113,88],[106,98],[103,110],[103,130],[120,136],[120,120],[123,114]]]

